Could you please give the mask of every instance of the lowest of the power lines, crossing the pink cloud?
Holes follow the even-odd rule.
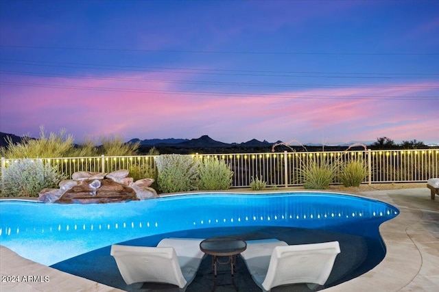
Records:
[[[90,86],[76,85],[56,85],[42,83],[21,83],[0,81],[0,84],[14,86],[31,86],[38,88],[58,88],[58,89],[74,89],[74,90],[98,90],[108,92],[132,92],[132,93],[156,93],[156,94],[181,94],[181,95],[202,95],[202,96],[263,96],[266,98],[300,98],[300,99],[379,99],[394,101],[419,101],[419,100],[436,100],[438,96],[340,96],[340,95],[311,95],[311,94],[263,94],[263,93],[240,93],[240,92],[185,92],[180,90],[142,90],[134,88],[99,88]]]

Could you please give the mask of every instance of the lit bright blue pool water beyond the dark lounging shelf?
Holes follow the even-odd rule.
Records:
[[[112,204],[0,201],[0,243],[54,265],[114,243],[182,230],[234,226],[313,228],[379,238],[390,204],[324,192],[186,194]]]

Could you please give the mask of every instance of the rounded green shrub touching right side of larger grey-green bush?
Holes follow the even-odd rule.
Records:
[[[224,160],[219,160],[216,157],[204,158],[200,162],[199,172],[199,189],[228,189],[232,184],[233,171]]]

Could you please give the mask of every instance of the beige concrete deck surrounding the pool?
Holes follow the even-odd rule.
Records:
[[[387,202],[401,211],[399,216],[380,226],[387,254],[377,267],[366,274],[324,289],[324,291],[439,291],[438,198],[431,200],[427,187],[365,191],[357,195]],[[0,274],[0,291],[2,292],[122,291],[34,263],[3,246],[0,246]],[[12,278],[7,278],[8,276]],[[19,282],[11,281],[15,276],[19,276]],[[48,276],[48,280],[44,276]],[[207,277],[204,280],[205,291],[210,291],[212,279]],[[253,288],[249,290],[246,283],[240,282],[239,277],[235,280],[240,291],[254,291]],[[200,283],[195,284],[200,285]],[[187,291],[191,289],[191,285]],[[157,290],[145,287],[139,291]],[[175,290],[160,289],[160,291]],[[198,288],[193,291],[202,290]],[[216,291],[225,292],[234,291],[234,289],[231,286],[219,286]],[[286,290],[273,289],[272,291]]]

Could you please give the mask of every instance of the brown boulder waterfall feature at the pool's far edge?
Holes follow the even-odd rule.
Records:
[[[71,180],[61,181],[59,189],[43,189],[38,201],[58,203],[107,203],[146,200],[158,195],[150,185],[153,178],[133,182],[128,170],[110,174],[102,172],[75,172]]]

